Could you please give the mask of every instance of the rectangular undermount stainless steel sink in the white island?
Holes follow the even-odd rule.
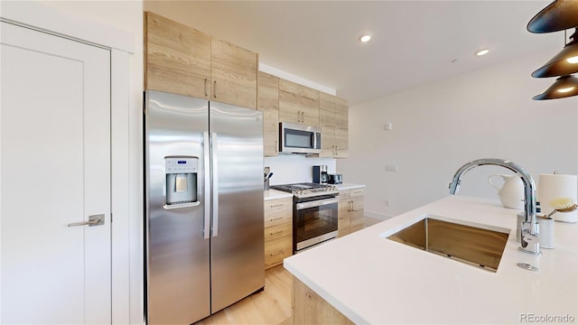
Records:
[[[497,272],[509,231],[507,228],[425,215],[414,224],[382,237]]]

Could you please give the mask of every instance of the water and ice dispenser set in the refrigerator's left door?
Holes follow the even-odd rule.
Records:
[[[197,179],[199,158],[191,156],[164,157],[164,189],[166,209],[199,205]]]

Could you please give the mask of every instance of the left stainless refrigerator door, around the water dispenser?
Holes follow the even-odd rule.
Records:
[[[209,232],[203,236],[209,102],[149,90],[144,103],[147,322],[191,324],[210,315]],[[182,161],[167,163],[174,156],[196,157],[196,203],[167,204],[167,190],[191,190],[167,178],[171,163]]]

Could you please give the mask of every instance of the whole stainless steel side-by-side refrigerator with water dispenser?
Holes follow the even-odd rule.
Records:
[[[190,324],[265,286],[263,117],[144,93],[145,311]]]

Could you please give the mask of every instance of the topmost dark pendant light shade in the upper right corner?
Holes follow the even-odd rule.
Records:
[[[528,32],[558,32],[578,27],[578,1],[556,0],[527,23]]]

